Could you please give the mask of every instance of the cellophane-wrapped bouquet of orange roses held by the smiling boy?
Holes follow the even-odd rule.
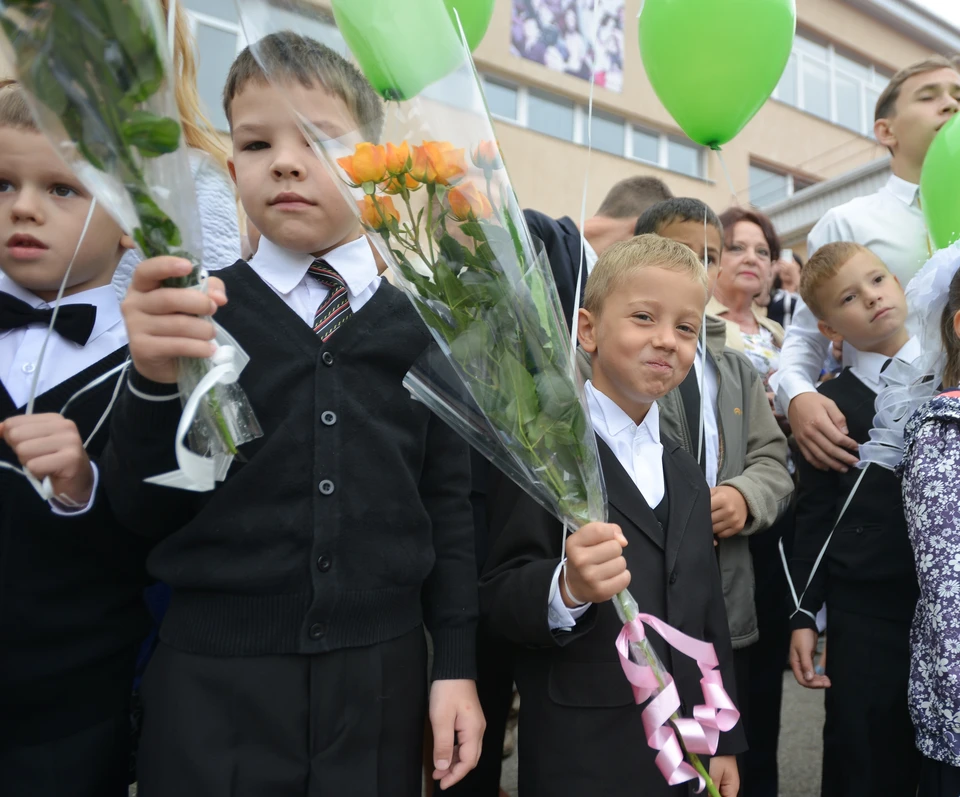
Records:
[[[385,119],[381,126],[344,108],[323,129],[297,108],[291,89],[299,78],[281,65],[290,44],[271,35],[279,33],[271,4],[237,0],[237,7],[265,74],[286,93],[306,139],[437,343],[405,386],[575,530],[606,520],[606,495],[570,333],[542,245],[510,184],[469,49],[442,0],[427,11],[431,2],[420,3],[423,14],[412,21],[403,4],[382,3],[369,19],[350,0],[334,3],[341,33],[386,100]],[[310,32],[309,24],[298,29]],[[409,47],[414,40],[432,51],[423,63]],[[322,88],[340,96],[335,86]],[[629,592],[614,604],[625,623],[637,619]],[[669,675],[649,642],[629,647],[663,688]]]

